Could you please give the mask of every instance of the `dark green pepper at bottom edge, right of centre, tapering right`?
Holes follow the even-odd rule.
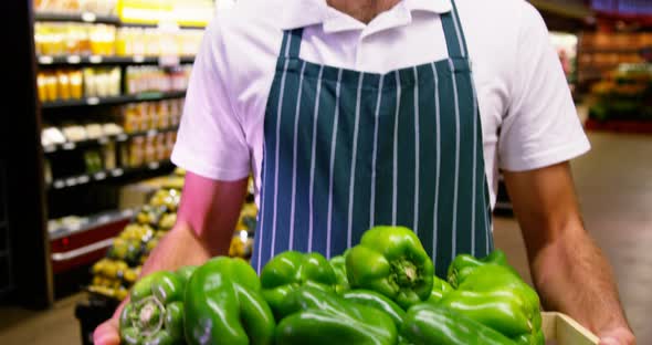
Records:
[[[413,305],[401,335],[413,345],[511,345],[503,334],[454,311],[430,303]]]

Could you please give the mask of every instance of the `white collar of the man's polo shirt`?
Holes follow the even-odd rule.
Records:
[[[326,0],[285,0],[284,3],[281,19],[282,30],[323,24],[324,31],[332,33],[362,30],[367,27],[355,18],[328,7]],[[451,0],[402,0],[397,7],[408,14],[412,11],[441,14],[452,9]]]

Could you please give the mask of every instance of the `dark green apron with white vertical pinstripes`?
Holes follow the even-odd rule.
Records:
[[[445,276],[493,249],[482,128],[456,8],[449,59],[385,74],[299,59],[286,31],[264,119],[253,266],[286,251],[330,258],[374,226],[412,229]],[[435,44],[433,42],[433,44]]]

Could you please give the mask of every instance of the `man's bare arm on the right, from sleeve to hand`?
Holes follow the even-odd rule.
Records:
[[[603,344],[633,345],[611,266],[583,228],[569,165],[504,176],[544,307],[574,317]]]

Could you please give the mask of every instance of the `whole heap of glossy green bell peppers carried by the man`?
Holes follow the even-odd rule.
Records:
[[[460,254],[439,278],[407,228],[369,229],[330,261],[282,252],[260,276],[225,257],[189,272],[135,285],[124,344],[545,344],[539,297],[502,251]]]

